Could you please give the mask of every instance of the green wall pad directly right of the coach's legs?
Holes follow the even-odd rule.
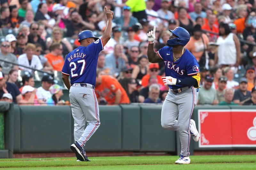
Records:
[[[121,151],[122,110],[119,106],[100,106],[100,127],[85,144],[85,151]]]

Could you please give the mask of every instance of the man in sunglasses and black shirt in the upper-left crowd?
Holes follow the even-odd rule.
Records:
[[[29,29],[30,29],[30,33],[28,35],[28,42],[32,43],[32,44],[36,44],[36,43],[41,44],[43,51],[45,51],[47,49],[45,41],[37,34],[37,32],[39,30],[39,24],[33,23],[30,25]],[[46,53],[47,53],[47,51],[46,51]]]

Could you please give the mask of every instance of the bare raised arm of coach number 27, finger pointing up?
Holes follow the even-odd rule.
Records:
[[[113,19],[113,14],[114,14],[113,11],[108,10],[106,6],[105,6],[105,11],[106,11],[106,15],[107,15],[107,24],[106,24],[105,31],[101,37],[103,45],[106,45],[108,40],[111,38],[112,19]]]

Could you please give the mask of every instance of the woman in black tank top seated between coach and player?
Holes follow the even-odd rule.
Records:
[[[141,55],[138,59],[139,64],[132,70],[132,78],[141,80],[148,71],[148,57]]]

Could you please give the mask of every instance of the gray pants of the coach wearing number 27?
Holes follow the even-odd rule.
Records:
[[[92,137],[100,126],[99,106],[92,85],[81,87],[75,83],[70,87],[69,98],[74,118],[74,137],[81,146]],[[85,123],[87,126],[85,127]]]

